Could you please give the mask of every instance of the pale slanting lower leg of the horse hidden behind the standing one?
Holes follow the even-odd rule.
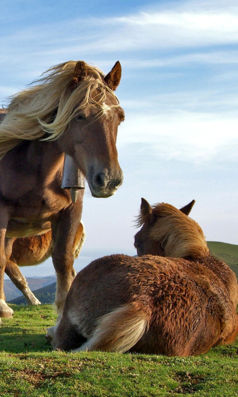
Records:
[[[13,284],[22,292],[28,305],[40,305],[41,302],[35,297],[28,287],[28,283],[20,271],[19,267],[13,262],[12,257],[6,262],[5,273]]]

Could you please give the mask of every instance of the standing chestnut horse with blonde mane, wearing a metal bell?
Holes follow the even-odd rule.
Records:
[[[11,317],[3,275],[16,237],[52,231],[58,319],[75,276],[73,244],[83,190],[76,202],[61,189],[64,153],[87,178],[93,197],[112,196],[122,183],[116,139],[124,119],[114,94],[119,62],[105,76],[83,61],[53,66],[15,95],[0,124],[0,317]]]

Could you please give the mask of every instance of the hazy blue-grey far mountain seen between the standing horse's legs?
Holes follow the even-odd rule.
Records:
[[[37,290],[39,288],[45,287],[56,281],[55,275],[45,276],[45,277],[27,277],[27,282],[31,291]],[[11,280],[4,280],[4,293],[6,301],[22,296],[21,291],[15,287]]]

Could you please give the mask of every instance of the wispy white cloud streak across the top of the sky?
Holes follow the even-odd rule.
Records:
[[[3,32],[2,47],[9,51],[14,43],[17,54],[22,53],[22,49],[27,54],[31,48],[39,57],[52,59],[67,54],[136,53],[143,49],[168,50],[171,47],[237,43],[238,7],[232,3],[222,7],[214,1],[208,1],[206,7],[204,4],[193,2],[188,7],[186,2],[179,2],[179,6],[173,10],[149,9],[147,12],[122,17],[100,16],[71,18],[54,23],[38,22],[37,25],[21,27],[10,35]],[[21,43],[20,47],[18,43]]]

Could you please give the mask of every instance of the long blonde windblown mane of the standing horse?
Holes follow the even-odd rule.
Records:
[[[45,139],[57,139],[80,111],[93,107],[103,113],[107,92],[119,105],[118,98],[103,80],[103,72],[97,67],[86,64],[87,77],[73,88],[76,63],[69,61],[51,67],[42,78],[33,81],[35,85],[11,98],[7,115],[0,124],[0,159],[22,140],[42,138],[46,132],[48,137]],[[93,96],[95,90],[97,95]]]

